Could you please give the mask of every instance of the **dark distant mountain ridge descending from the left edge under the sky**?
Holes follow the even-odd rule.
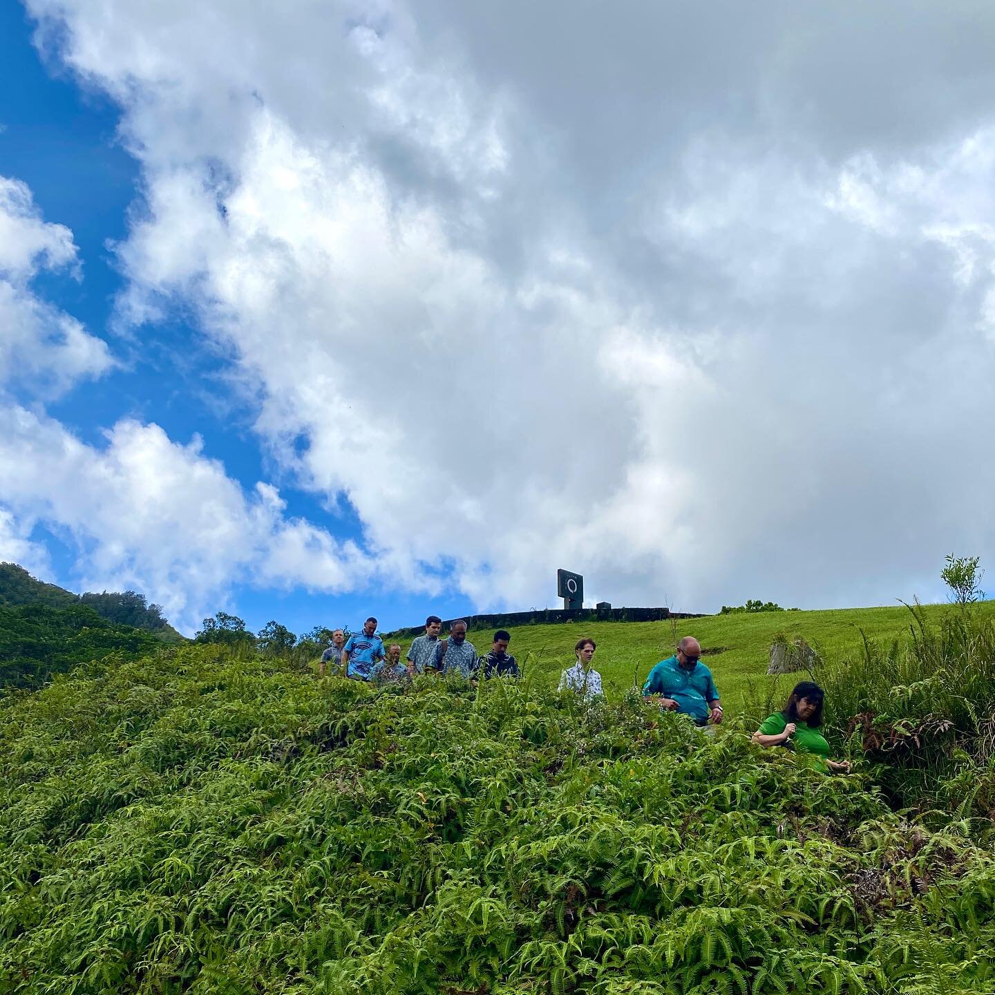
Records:
[[[38,580],[17,563],[0,563],[0,608],[34,604],[49,608],[85,606],[107,622],[143,629],[164,643],[177,643],[183,639],[163,617],[161,607],[148,604],[145,596],[136,591],[74,594],[56,584]]]

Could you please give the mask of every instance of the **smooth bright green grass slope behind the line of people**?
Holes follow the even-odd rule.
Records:
[[[926,605],[930,622],[938,623],[953,611],[951,605]],[[978,612],[995,617],[995,601],[978,605]],[[811,612],[760,612],[709,615],[676,621],[676,635],[695,636],[704,650],[725,647],[707,656],[715,685],[726,712],[742,710],[750,682],[763,685],[770,644],[783,633],[788,639],[803,637],[824,658],[839,660],[863,653],[864,637],[891,644],[908,638],[912,616],[902,605],[894,608],[847,608]],[[595,667],[609,697],[622,697],[634,684],[642,684],[650,669],[674,650],[675,630],[670,622],[592,622],[521,626],[510,629],[510,652],[520,662],[537,667],[550,679],[571,666],[574,644],[588,636],[598,644]],[[862,635],[863,633],[863,635]],[[491,646],[494,632],[472,630],[468,637],[479,653]],[[403,643],[404,651],[410,641]],[[783,681],[782,681],[783,684]]]

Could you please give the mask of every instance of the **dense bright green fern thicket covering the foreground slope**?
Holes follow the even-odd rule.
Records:
[[[995,992],[990,822],[639,699],[185,646],[0,712],[0,991]]]

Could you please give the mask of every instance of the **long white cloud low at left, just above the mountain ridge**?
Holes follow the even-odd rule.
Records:
[[[118,422],[102,448],[53,419],[0,409],[0,557],[38,568],[27,524],[60,534],[79,557],[82,587],[133,588],[192,631],[233,583],[338,591],[376,576],[353,543],[288,517],[277,491],[246,494],[199,440]]]

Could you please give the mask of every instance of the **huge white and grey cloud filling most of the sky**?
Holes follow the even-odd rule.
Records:
[[[986,8],[28,6],[143,168],[122,315],[192,308],[400,582],[846,604],[995,543]]]

